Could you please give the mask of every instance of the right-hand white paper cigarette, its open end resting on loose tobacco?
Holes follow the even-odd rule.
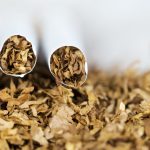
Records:
[[[85,48],[73,14],[62,8],[59,12],[47,12],[49,18],[43,21],[45,58],[58,84],[77,88],[86,81],[88,74]]]

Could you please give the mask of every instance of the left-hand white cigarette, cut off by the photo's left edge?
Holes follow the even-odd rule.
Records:
[[[0,14],[1,21],[0,21],[0,55],[1,55],[1,70],[3,73],[7,75],[11,75],[14,77],[24,77],[26,74],[31,72],[36,64],[36,56],[37,56],[37,37],[36,33],[34,32],[34,28],[32,25],[32,21],[30,20],[30,17],[27,15],[20,14],[18,12],[12,12],[12,13],[2,13]],[[16,36],[17,35],[17,36]],[[11,41],[10,41],[11,40]],[[19,41],[20,40],[20,41]],[[11,44],[9,44],[9,42]],[[6,43],[8,42],[8,44]],[[7,45],[7,46],[6,46]],[[26,49],[25,49],[26,48]],[[6,50],[5,54],[4,51]],[[8,52],[7,52],[8,50]],[[24,51],[21,54],[19,54],[20,51]],[[15,52],[14,52],[15,51]],[[8,53],[14,53],[11,54],[11,58],[7,57],[6,55]],[[33,55],[32,55],[33,54]],[[26,56],[28,55],[28,57]],[[33,58],[33,56],[35,56]],[[7,59],[6,59],[7,57]],[[14,58],[12,58],[14,57]],[[16,62],[17,57],[17,62]],[[22,60],[25,58],[24,60]],[[20,71],[10,71],[9,67],[6,68],[4,65],[6,62],[8,62],[10,59],[13,61],[9,64],[10,66],[18,67]],[[33,59],[32,66],[29,66],[29,62],[26,59]],[[22,64],[19,64],[19,61],[26,62],[23,66]],[[25,67],[28,68],[25,71]]]

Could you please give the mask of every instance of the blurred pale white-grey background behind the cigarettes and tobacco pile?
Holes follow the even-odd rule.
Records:
[[[43,16],[50,23],[51,11],[60,7],[76,17],[89,66],[122,70],[137,63],[142,71],[150,69],[149,0],[0,0],[0,38],[24,18],[42,28]]]

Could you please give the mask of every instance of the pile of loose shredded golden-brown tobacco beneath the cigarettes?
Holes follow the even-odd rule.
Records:
[[[0,149],[149,148],[149,72],[92,70],[78,89],[37,71],[0,75]]]

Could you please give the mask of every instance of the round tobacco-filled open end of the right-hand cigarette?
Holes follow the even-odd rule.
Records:
[[[84,54],[73,46],[63,46],[51,55],[50,70],[56,81],[67,87],[80,87],[87,78]]]

